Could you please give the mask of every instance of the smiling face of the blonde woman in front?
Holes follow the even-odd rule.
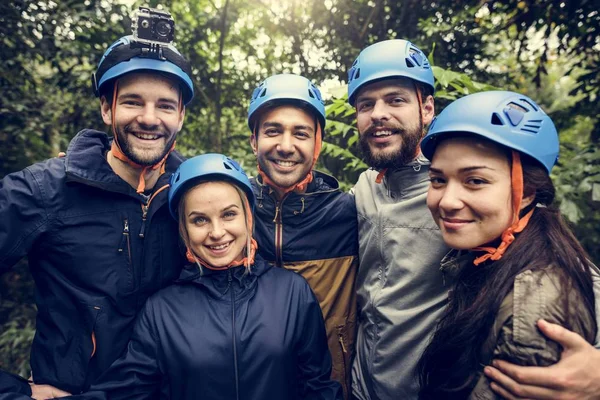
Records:
[[[201,183],[188,190],[182,201],[188,245],[198,258],[216,268],[244,258],[246,214],[232,184]]]

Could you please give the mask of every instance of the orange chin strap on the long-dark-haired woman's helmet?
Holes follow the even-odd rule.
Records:
[[[477,257],[473,264],[479,265],[488,259],[498,261],[502,258],[506,249],[515,240],[515,233],[522,232],[529,223],[529,219],[533,215],[534,209],[531,209],[523,218],[519,219],[519,211],[521,210],[521,201],[523,200],[523,166],[521,165],[521,157],[515,150],[512,151],[512,208],[513,208],[513,223],[502,232],[502,243],[498,248],[493,247],[475,247],[475,251],[484,251],[484,254]]]

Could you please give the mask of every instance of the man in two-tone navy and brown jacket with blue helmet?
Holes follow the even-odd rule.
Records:
[[[259,171],[252,179],[259,254],[301,274],[315,292],[325,319],[332,378],[348,398],[356,319],[356,208],[333,177],[313,170],[325,129],[321,93],[302,76],[271,76],[252,94],[248,125]]]

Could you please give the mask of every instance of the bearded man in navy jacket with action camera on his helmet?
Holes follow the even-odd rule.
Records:
[[[87,389],[125,349],[146,298],[182,265],[165,189],[183,160],[172,150],[193,97],[189,64],[169,44],[127,36],[93,82],[113,138],[83,130],[66,157],[0,182],[0,271],[29,256],[38,309],[31,386],[4,375],[5,392]]]

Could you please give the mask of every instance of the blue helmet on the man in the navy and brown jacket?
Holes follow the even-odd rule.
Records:
[[[282,104],[298,104],[308,108],[325,130],[325,103],[319,89],[308,79],[300,75],[279,74],[262,81],[250,99],[248,107],[248,127],[254,132],[254,124],[261,111]]]

